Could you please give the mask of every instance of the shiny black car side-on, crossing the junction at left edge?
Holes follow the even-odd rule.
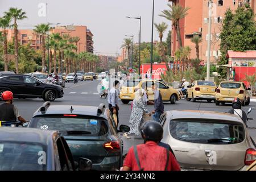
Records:
[[[63,97],[63,88],[59,85],[46,84],[30,75],[0,75],[0,95],[9,90],[14,98],[43,98],[54,101]]]

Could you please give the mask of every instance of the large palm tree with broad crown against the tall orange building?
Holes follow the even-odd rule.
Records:
[[[183,8],[181,5],[170,5],[168,4],[171,10],[163,10],[159,16],[162,16],[170,21],[176,30],[177,39],[179,42],[179,47],[182,47],[181,35],[180,35],[180,19],[185,18],[187,16],[187,11],[190,9],[189,7]]]

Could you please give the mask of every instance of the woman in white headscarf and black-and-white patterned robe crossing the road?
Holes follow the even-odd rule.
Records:
[[[133,110],[131,111],[131,117],[130,117],[130,131],[129,134],[134,133],[135,135],[141,135],[141,131],[139,130],[139,127],[144,122],[143,121],[143,113],[145,112],[149,116],[151,115],[150,112],[146,108],[146,104],[143,100],[143,89],[138,89],[137,92],[135,92],[135,98],[133,100]],[[127,137],[127,134],[124,135]]]

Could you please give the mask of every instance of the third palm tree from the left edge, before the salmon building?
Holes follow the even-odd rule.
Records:
[[[46,32],[49,31],[49,25],[42,23],[35,26],[34,31],[42,36],[42,73],[44,73],[44,67],[46,67],[46,43],[44,41],[44,37],[46,36]]]

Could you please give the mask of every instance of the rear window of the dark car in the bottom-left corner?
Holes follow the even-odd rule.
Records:
[[[46,154],[41,144],[0,141],[0,171],[44,171]]]

